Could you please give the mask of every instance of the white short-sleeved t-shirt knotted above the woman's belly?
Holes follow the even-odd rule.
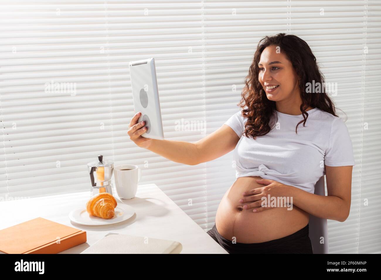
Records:
[[[325,175],[327,166],[355,165],[352,141],[347,126],[340,117],[318,108],[307,111],[306,126],[296,125],[303,115],[288,115],[275,111],[270,128],[264,136],[248,138],[242,135],[247,118],[241,110],[224,125],[240,137],[234,149],[236,178],[260,176],[314,193],[316,182]]]

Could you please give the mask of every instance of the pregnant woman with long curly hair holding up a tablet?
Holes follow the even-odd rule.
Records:
[[[194,143],[142,138],[139,112],[128,135],[139,147],[189,165],[234,149],[237,179],[208,234],[229,253],[312,253],[309,214],[347,219],[355,161],[307,43],[284,33],[261,39],[239,105],[221,128]],[[328,195],[315,195],[323,175]]]

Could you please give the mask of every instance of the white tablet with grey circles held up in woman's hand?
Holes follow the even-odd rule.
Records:
[[[135,112],[141,112],[138,122],[145,122],[147,131],[141,136],[164,139],[160,113],[154,58],[130,62],[130,77]]]

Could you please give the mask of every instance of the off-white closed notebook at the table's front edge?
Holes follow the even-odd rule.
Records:
[[[109,233],[81,254],[179,254],[182,245],[172,240]]]

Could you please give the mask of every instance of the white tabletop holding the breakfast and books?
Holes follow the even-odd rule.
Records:
[[[136,197],[120,199],[113,189],[118,203],[134,208],[130,219],[111,225],[83,226],[69,219],[74,208],[85,207],[90,191],[74,194],[51,195],[0,202],[0,229],[42,217],[60,224],[86,231],[87,242],[61,253],[80,253],[109,232],[147,236],[173,240],[182,244],[182,254],[227,252],[196,224],[155,184],[139,185]]]

